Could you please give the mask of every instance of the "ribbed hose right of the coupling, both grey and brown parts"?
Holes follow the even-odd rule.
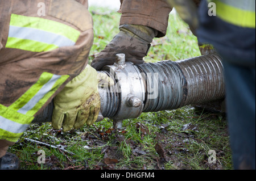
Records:
[[[143,112],[174,110],[225,96],[221,58],[215,54],[137,66],[146,75]]]

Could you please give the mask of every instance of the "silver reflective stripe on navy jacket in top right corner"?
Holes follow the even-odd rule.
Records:
[[[255,12],[255,0],[221,0],[220,2],[238,9]]]

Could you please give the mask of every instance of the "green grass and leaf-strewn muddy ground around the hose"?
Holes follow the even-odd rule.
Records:
[[[91,7],[93,10],[99,13],[93,14],[94,43],[89,61],[119,32],[121,16],[117,12],[100,15],[104,9]],[[197,39],[187,24],[175,14],[170,15],[169,24],[167,36],[154,40],[144,60],[175,61],[200,56]],[[184,129],[187,124],[191,126]],[[221,113],[185,106],[142,113],[137,119],[124,120],[119,131],[112,127],[108,118],[67,133],[53,130],[50,123],[32,124],[9,151],[18,155],[21,169],[26,170],[232,169],[228,125]],[[46,163],[38,163],[39,150],[44,151]],[[208,162],[209,150],[216,152],[216,163]]]

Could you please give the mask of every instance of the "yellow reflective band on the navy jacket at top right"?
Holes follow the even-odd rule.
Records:
[[[243,10],[226,5],[220,0],[214,0],[212,2],[216,3],[217,16],[225,22],[245,28],[255,28],[255,11]]]

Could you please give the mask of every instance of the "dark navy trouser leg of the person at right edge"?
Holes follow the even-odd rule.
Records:
[[[255,169],[255,68],[230,64],[224,58],[224,71],[234,169]]]

